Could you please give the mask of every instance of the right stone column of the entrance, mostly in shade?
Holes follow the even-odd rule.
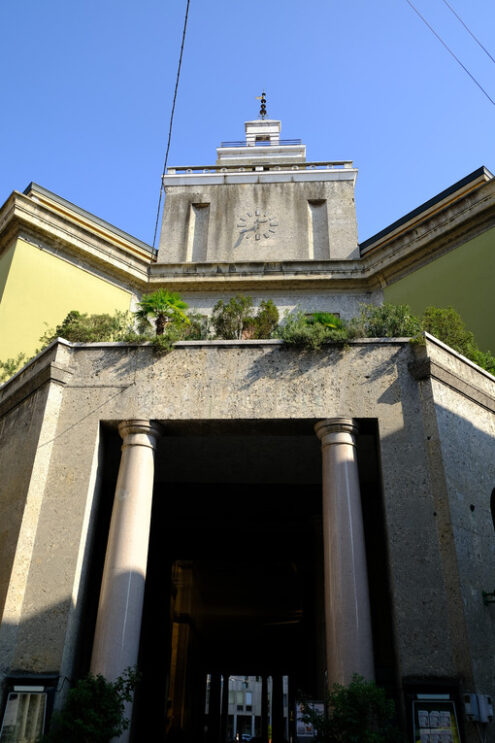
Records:
[[[374,678],[363,517],[351,419],[320,421],[328,685]]]

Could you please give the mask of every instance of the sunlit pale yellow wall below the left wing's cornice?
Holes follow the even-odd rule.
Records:
[[[130,302],[131,292],[17,240],[0,303],[0,361],[32,355],[71,310],[112,314]]]

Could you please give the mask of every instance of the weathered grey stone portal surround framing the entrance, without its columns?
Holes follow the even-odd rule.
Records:
[[[1,456],[25,456],[25,468],[10,470],[0,483],[9,512],[7,553],[13,555],[16,530],[30,530],[31,539],[17,558],[25,585],[17,587],[15,570],[3,578],[8,595],[19,597],[6,666],[70,671],[102,423],[143,418],[167,431],[174,422],[227,421],[242,428],[346,417],[377,421],[389,557],[383,569],[390,576],[400,675],[460,676],[489,693],[493,669],[485,638],[495,616],[483,606],[481,590],[493,589],[495,574],[489,511],[495,421],[471,392],[493,400],[495,380],[432,338],[422,353],[429,366],[418,380],[409,370],[415,352],[400,339],[319,352],[277,341],[184,342],[162,357],[151,347],[123,344],[49,349],[2,391],[7,409],[9,395],[44,364],[56,361],[67,370],[65,385],[38,374],[41,386],[33,382],[2,423]],[[448,385],[430,373],[440,368],[450,375]],[[33,466],[40,473],[36,483],[34,474],[29,479]],[[262,466],[269,470],[269,461]]]

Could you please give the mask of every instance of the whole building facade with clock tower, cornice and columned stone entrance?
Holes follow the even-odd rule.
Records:
[[[484,169],[360,248],[351,163],[308,163],[267,119],[217,154],[167,172],[157,256],[38,187],[4,206],[3,244],[42,233],[121,306],[166,286],[203,314],[242,292],[345,318],[458,251],[493,254]],[[21,701],[35,740],[68,682],[138,665],[122,740],[295,741],[298,690],[322,700],[354,673],[414,740],[495,740],[495,379],[432,336],[162,357],[59,339],[0,388],[0,437],[9,734]]]

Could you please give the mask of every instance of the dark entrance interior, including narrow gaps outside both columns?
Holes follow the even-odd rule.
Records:
[[[234,732],[251,735],[253,710],[247,709],[247,697],[231,695],[229,701],[229,677],[268,679],[274,743],[287,732],[291,737],[293,721],[276,720],[281,708],[290,719],[296,690],[323,698],[321,455],[313,425],[312,420],[166,424],[156,455],[136,740],[223,743]],[[361,421],[359,429],[375,670],[377,680],[393,691],[376,423]],[[88,583],[93,586],[101,579],[120,461],[115,429],[103,434],[102,498]],[[82,672],[89,663],[97,599],[97,592],[88,592]],[[282,677],[285,692],[276,680]],[[266,737],[259,711],[255,736]]]

